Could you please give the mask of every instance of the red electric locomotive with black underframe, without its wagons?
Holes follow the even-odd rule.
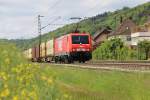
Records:
[[[92,38],[86,33],[71,33],[54,40],[55,62],[85,62],[92,58]]]

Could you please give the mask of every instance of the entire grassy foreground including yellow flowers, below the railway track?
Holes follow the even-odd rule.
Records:
[[[150,73],[33,64],[0,43],[0,100],[150,100]]]

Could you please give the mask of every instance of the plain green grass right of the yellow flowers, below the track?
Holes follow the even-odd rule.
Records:
[[[63,66],[42,69],[55,76],[64,91],[77,100],[149,100],[150,74],[75,69]]]

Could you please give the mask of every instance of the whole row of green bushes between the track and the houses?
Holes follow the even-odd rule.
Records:
[[[127,47],[119,38],[107,40],[94,52],[94,60],[148,60],[150,41],[139,42],[136,48]]]

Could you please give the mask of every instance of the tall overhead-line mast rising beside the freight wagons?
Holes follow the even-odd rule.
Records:
[[[44,17],[44,16],[41,16],[41,15],[38,15],[38,34],[39,34],[39,59],[41,58],[41,17]]]

